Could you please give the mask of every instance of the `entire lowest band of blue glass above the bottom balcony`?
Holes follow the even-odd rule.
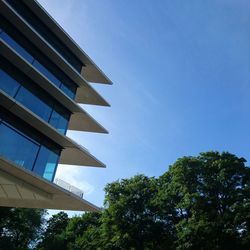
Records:
[[[53,181],[60,146],[0,108],[0,156]]]

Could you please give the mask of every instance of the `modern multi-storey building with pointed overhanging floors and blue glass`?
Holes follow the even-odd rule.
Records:
[[[0,206],[98,210],[53,182],[59,163],[105,167],[66,136],[107,133],[79,105],[109,106],[89,82],[111,84],[37,1],[0,0]]]

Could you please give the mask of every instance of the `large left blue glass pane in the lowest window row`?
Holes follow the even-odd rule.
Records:
[[[0,124],[0,155],[32,170],[39,146],[5,123]]]

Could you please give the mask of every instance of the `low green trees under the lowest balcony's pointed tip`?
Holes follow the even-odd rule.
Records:
[[[64,212],[53,215],[37,249],[98,249],[101,213],[85,213],[71,219]]]

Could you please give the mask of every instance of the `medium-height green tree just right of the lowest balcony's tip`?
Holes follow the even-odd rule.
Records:
[[[154,197],[155,178],[137,175],[106,186],[102,216],[104,249],[171,249],[168,221],[161,220]]]

